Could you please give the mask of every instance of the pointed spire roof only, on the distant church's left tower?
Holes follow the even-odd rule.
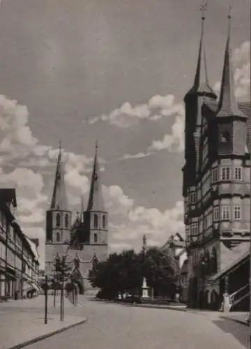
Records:
[[[51,209],[60,209],[63,211],[68,211],[64,174],[65,172],[62,162],[61,141],[59,141],[59,156],[56,163],[56,175],[52,193],[52,202],[50,206]]]

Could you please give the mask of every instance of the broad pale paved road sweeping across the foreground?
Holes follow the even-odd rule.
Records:
[[[248,327],[231,320],[168,309],[87,301],[87,322],[27,349],[241,349]],[[66,314],[67,316],[67,314]]]

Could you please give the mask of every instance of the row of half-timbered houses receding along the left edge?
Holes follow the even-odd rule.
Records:
[[[15,188],[0,188],[0,302],[33,297],[38,288],[38,239],[15,220]]]

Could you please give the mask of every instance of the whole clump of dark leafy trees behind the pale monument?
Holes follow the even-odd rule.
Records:
[[[102,297],[107,299],[124,292],[135,296],[142,288],[143,276],[160,295],[174,296],[178,285],[176,260],[160,248],[150,248],[146,253],[112,253],[89,272],[91,285],[100,288]]]

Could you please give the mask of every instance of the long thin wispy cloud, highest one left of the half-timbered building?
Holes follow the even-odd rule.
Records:
[[[132,106],[126,102],[107,115],[102,114],[99,117],[93,117],[83,122],[95,124],[98,121],[107,121],[109,124],[119,128],[128,128],[135,126],[144,119],[157,121],[162,117],[169,117],[180,112],[183,112],[183,106],[180,103],[176,103],[172,94],[167,96],[157,95],[151,97],[148,103]]]

